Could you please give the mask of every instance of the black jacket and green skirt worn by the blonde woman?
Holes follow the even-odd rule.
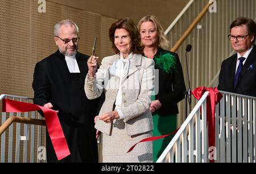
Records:
[[[174,56],[176,62],[175,69],[170,67],[168,72],[157,63],[158,58],[167,53]],[[179,56],[176,53],[158,48],[154,61],[155,69],[158,70],[158,74],[155,74],[155,92],[157,94],[153,96],[152,100],[159,100],[162,108],[152,114],[154,121],[153,136],[160,136],[177,129],[177,113],[179,113],[177,103],[184,99],[185,82]],[[154,162],[170,143],[172,137],[174,135],[153,142]]]

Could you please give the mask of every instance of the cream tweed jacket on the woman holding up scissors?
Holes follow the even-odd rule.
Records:
[[[119,54],[103,58],[96,78],[85,79],[85,94],[88,99],[96,99],[105,92],[105,102],[100,113],[113,111],[117,97],[119,78],[109,73],[110,66],[119,59]],[[127,135],[136,135],[153,130],[150,112],[151,96],[154,88],[154,61],[134,54],[130,60],[129,71],[122,79],[122,108]],[[98,120],[95,128],[111,135],[112,123]]]

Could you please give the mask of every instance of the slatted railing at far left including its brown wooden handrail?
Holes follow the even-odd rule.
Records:
[[[12,99],[17,101],[25,101],[32,103],[32,97],[26,96],[15,96],[15,95],[0,95],[0,101],[2,99]],[[1,102],[2,103],[2,102]],[[30,115],[31,114],[31,115]],[[20,162],[20,157],[23,156],[23,162],[42,162],[44,159],[36,159],[35,154],[36,146],[45,146],[45,143],[42,143],[42,129],[46,126],[45,120],[42,119],[39,113],[36,112],[25,112],[24,116],[20,112],[10,112],[9,117],[6,112],[0,112],[2,121],[0,123],[0,137],[1,137],[1,153],[0,161],[14,162],[14,153],[15,153],[15,162]],[[30,117],[31,116],[31,117]],[[38,116],[38,117],[37,117]],[[36,119],[35,119],[36,118]],[[14,130],[14,123],[16,123],[16,130]],[[2,125],[1,125],[2,124]],[[20,125],[23,124],[23,125]],[[37,129],[36,129],[37,128]],[[6,131],[9,129],[9,133],[6,134]],[[23,136],[20,133],[23,131]],[[37,136],[35,135],[37,133]],[[30,137],[31,138],[28,138]],[[16,137],[16,138],[15,138]],[[7,138],[7,140],[6,140]],[[37,139],[36,139],[37,138]],[[43,137],[45,138],[45,136]],[[30,140],[30,141],[28,141]],[[23,141],[23,147],[20,144],[20,141]],[[8,152],[6,152],[6,148]],[[23,150],[23,152],[22,152]],[[28,152],[28,150],[30,152]],[[20,154],[20,152],[22,154]]]

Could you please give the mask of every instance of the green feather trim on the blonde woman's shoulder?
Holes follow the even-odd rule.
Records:
[[[159,56],[155,56],[155,65],[166,73],[176,69],[176,58],[171,53],[161,53]]]

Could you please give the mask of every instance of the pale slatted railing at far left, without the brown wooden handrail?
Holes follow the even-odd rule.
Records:
[[[32,103],[32,98],[30,97],[3,94],[0,96],[0,101],[2,101],[2,99],[11,99]],[[26,113],[0,112],[1,125],[3,125],[8,118],[13,116],[43,120],[42,116],[35,111]],[[42,149],[39,147],[46,147],[45,136],[42,135],[45,132],[44,129],[45,126],[42,125],[21,124],[19,122],[11,124],[9,129],[4,131],[1,135],[0,162],[46,162],[46,160],[38,158],[38,150]]]

